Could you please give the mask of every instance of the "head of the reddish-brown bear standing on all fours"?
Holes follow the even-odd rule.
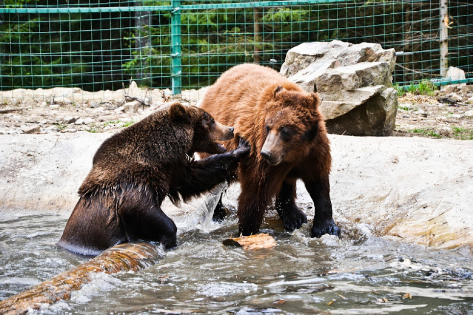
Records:
[[[277,86],[266,103],[260,154],[270,165],[292,162],[308,154],[311,143],[324,129],[319,95]],[[307,152],[304,152],[307,151]]]

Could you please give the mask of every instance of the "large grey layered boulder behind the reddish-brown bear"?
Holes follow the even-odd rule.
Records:
[[[395,63],[394,49],[378,44],[315,42],[289,50],[280,73],[307,92],[319,92],[329,133],[390,135],[398,109]]]

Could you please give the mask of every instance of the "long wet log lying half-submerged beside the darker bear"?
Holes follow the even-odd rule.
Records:
[[[37,310],[44,303],[53,304],[61,299],[67,300],[72,291],[79,290],[91,280],[94,272],[142,270],[156,264],[161,257],[162,251],[159,247],[147,242],[114,246],[71,270],[1,301],[0,314],[25,314],[28,309]]]

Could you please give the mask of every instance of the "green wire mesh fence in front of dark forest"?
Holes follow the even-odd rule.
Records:
[[[473,81],[473,5],[444,1],[445,12],[442,0],[3,0],[0,90],[116,90],[131,77],[179,93],[240,63],[278,70],[291,47],[334,39],[395,48],[400,85],[446,83],[445,63]]]

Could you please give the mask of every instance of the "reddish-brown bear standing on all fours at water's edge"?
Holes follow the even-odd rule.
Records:
[[[239,229],[257,233],[266,208],[275,208],[284,228],[293,231],[307,222],[296,206],[296,181],[301,179],[315,207],[312,237],[340,236],[332,218],[329,173],[330,143],[319,112],[319,96],[307,93],[275,70],[243,64],[227,70],[205,94],[200,107],[230,124],[251,144],[237,178]],[[226,142],[235,148],[237,142]],[[214,220],[224,217],[220,200]]]

